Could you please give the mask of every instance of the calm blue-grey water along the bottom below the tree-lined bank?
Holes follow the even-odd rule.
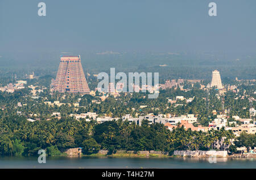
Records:
[[[39,164],[37,157],[1,157],[0,168],[256,168],[256,159],[47,157]]]

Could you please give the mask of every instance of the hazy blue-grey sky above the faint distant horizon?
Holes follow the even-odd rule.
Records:
[[[256,1],[0,0],[0,55],[73,50],[256,52]]]

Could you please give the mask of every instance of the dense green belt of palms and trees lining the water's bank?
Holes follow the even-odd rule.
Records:
[[[28,122],[24,117],[13,116],[0,121],[0,153],[7,156],[36,155],[47,149],[49,155],[59,155],[65,148],[82,147],[86,154],[99,149],[125,149],[134,151],[209,150],[228,149],[234,135],[231,131],[209,132],[185,130],[177,127],[167,130],[162,124],[142,126],[127,121],[77,121],[72,118],[52,121]],[[255,145],[255,135],[250,135]],[[247,135],[246,135],[247,137]],[[237,139],[237,145],[250,147],[247,138]]]

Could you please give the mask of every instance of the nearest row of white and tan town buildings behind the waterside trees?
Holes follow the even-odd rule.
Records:
[[[163,124],[170,131],[172,131],[174,128],[178,126],[184,126],[185,130],[191,128],[192,131],[203,132],[207,132],[210,129],[220,130],[222,127],[224,127],[225,130],[231,130],[236,136],[239,136],[243,131],[247,132],[248,134],[256,133],[256,121],[253,121],[253,119],[240,118],[239,116],[233,116],[232,118],[234,119],[234,121],[228,121],[228,117],[226,115],[217,115],[217,118],[210,122],[208,127],[198,125],[197,117],[195,114],[187,114],[181,115],[180,117],[172,117],[171,114],[154,115],[150,113],[139,117],[132,117],[130,114],[123,115],[123,117],[109,117],[98,116],[96,113],[88,112],[81,114],[69,114],[69,116],[77,119],[77,121],[80,121],[81,119],[86,119],[86,121],[94,120],[97,123],[117,121],[118,119],[122,119],[122,121],[135,123],[135,125],[139,126],[142,125],[143,120],[147,120],[149,124]],[[61,114],[52,113],[52,117],[60,119]],[[32,119],[28,119],[28,121],[31,120]],[[34,122],[34,120],[32,120],[31,122]]]

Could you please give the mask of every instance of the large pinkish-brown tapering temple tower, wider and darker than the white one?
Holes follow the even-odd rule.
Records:
[[[89,93],[90,89],[82,70],[81,57],[61,56],[53,88],[59,92]]]

